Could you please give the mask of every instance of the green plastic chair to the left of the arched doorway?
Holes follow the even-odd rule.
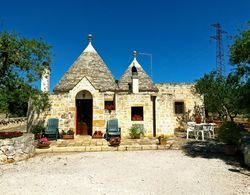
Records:
[[[48,119],[48,126],[44,131],[44,136],[49,139],[57,140],[59,131],[58,131],[59,120],[57,118]]]

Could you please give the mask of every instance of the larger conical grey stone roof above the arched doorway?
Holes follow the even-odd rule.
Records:
[[[90,39],[90,38],[89,38]],[[89,40],[89,45],[55,86],[54,92],[68,92],[84,77],[100,91],[115,91],[117,84],[111,71],[98,55]]]

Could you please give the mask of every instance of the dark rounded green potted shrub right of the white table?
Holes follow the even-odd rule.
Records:
[[[244,127],[242,125],[226,121],[219,128],[218,137],[220,141],[226,144],[237,145],[243,131]]]

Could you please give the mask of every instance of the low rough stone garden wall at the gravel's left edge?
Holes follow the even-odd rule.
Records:
[[[33,143],[33,134],[24,134],[12,139],[0,139],[0,164],[32,157],[35,153]]]

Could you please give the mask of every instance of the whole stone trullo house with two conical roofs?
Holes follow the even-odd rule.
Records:
[[[41,88],[49,91],[50,71],[45,71]],[[136,60],[119,81],[89,44],[50,95],[51,109],[43,115],[59,119],[59,129],[72,129],[76,135],[105,132],[106,122],[117,118],[122,136],[133,124],[144,127],[146,136],[173,134],[177,116],[203,105],[192,93],[193,84],[155,84]]]

